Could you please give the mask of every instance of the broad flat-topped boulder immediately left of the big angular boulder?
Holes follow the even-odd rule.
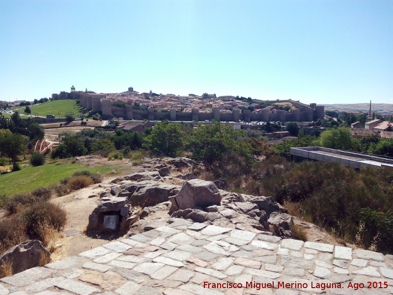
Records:
[[[130,190],[130,187],[128,188]],[[170,196],[178,192],[178,186],[156,182],[154,184],[143,184],[137,186],[129,203],[132,206],[150,207],[168,201]]]

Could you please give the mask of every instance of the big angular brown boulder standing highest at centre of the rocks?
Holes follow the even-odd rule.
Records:
[[[179,209],[221,205],[221,195],[211,181],[191,179],[184,182],[180,192],[170,199],[172,206]]]

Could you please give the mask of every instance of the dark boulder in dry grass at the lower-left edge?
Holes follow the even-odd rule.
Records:
[[[42,256],[50,259],[51,254],[44,248],[41,241],[29,240],[16,245],[0,255],[0,264],[12,264],[13,273],[39,266]]]

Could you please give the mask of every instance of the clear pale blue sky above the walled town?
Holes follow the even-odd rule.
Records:
[[[61,90],[393,103],[393,0],[0,0],[0,100]]]

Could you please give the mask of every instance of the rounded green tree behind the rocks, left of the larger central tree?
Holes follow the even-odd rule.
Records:
[[[142,146],[156,153],[175,156],[184,146],[185,132],[179,124],[168,121],[157,123],[147,135]]]

